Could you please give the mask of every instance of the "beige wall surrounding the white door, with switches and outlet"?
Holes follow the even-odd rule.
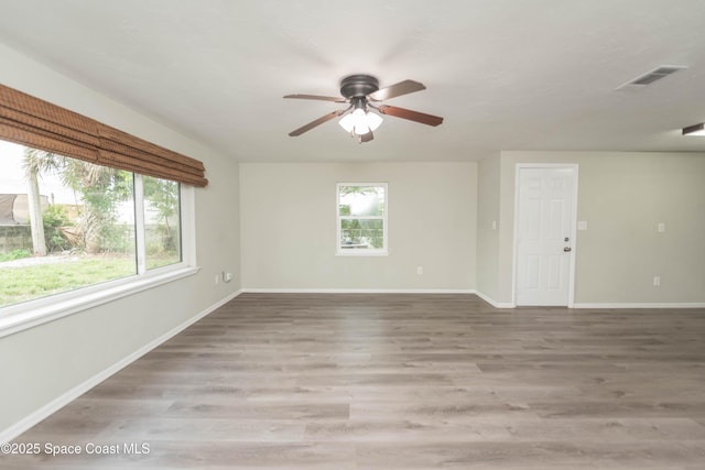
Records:
[[[705,154],[636,152],[502,152],[497,300],[513,300],[518,163],[579,165],[576,304],[705,303]]]

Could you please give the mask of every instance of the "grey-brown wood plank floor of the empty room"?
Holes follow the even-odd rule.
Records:
[[[0,467],[703,469],[705,309],[243,294],[15,442],[43,452]]]

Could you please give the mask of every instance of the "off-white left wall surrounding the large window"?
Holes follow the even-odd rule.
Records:
[[[232,296],[239,277],[216,286],[214,276],[224,270],[239,272],[240,242],[235,162],[3,45],[0,64],[3,85],[202,160],[210,181],[196,189],[196,275],[0,338],[2,434],[28,424],[43,406]]]

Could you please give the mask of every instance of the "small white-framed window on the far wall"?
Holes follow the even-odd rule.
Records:
[[[387,184],[338,183],[337,254],[387,254]]]

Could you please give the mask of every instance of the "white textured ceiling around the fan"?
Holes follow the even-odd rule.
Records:
[[[240,161],[477,160],[499,150],[705,151],[703,0],[3,0],[0,41]],[[688,68],[616,90],[660,66]],[[427,89],[359,145],[346,75]]]

